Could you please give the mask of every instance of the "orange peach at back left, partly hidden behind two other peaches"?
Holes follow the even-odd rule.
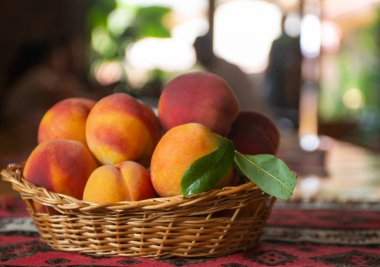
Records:
[[[53,105],[39,124],[38,143],[69,139],[86,144],[86,120],[94,105],[94,100],[79,97],[67,98]]]

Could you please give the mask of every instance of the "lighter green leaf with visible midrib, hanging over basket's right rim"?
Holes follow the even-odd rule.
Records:
[[[280,199],[288,199],[297,184],[288,166],[273,155],[245,155],[235,152],[238,169],[265,193]]]

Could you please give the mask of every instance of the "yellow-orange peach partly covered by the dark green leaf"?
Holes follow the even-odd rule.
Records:
[[[167,131],[158,142],[150,165],[156,192],[163,197],[182,194],[185,171],[194,161],[215,151],[219,144],[220,136],[200,123],[186,123]],[[231,168],[217,186],[229,185],[233,177]]]

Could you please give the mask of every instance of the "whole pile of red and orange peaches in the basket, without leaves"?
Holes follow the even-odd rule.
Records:
[[[221,137],[247,154],[275,154],[279,132],[264,114],[240,111],[220,77],[194,72],[163,88],[158,115],[124,93],[53,105],[23,175],[46,189],[95,203],[180,195],[183,174]],[[218,187],[237,183],[231,168]]]

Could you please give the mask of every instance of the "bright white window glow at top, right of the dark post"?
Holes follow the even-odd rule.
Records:
[[[281,11],[264,1],[238,0],[215,10],[215,53],[244,71],[267,66],[273,40],[281,32]]]

